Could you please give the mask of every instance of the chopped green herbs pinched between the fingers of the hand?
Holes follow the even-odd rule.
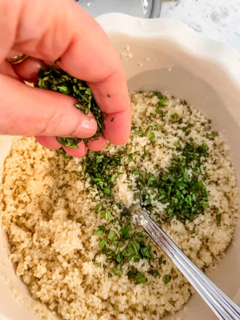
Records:
[[[38,73],[38,79],[38,87],[40,89],[61,92],[75,98],[76,108],[83,111],[85,115],[92,111],[93,116],[97,121],[98,129],[96,135],[90,138],[91,140],[96,140],[102,134],[104,117],[94,100],[91,89],[87,86],[85,81],[76,79],[73,76],[68,75],[65,71],[57,68],[50,68],[48,70],[41,68]],[[57,140],[63,146],[73,149],[78,148],[77,144],[82,141],[82,139],[79,138],[61,137],[57,137]],[[84,139],[85,143],[87,143],[87,141],[88,139]]]

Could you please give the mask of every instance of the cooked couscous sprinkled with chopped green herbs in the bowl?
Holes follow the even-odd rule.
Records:
[[[131,100],[124,146],[76,159],[16,138],[5,162],[10,258],[32,296],[66,320],[157,320],[194,292],[122,210],[138,189],[152,218],[203,271],[233,237],[236,176],[211,121],[159,92]]]

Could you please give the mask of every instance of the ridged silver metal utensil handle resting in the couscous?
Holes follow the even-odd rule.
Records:
[[[139,209],[136,219],[166,253],[220,320],[240,320],[240,308],[226,296],[163,232],[150,214]]]

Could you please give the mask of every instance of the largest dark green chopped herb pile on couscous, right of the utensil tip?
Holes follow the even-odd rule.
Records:
[[[147,209],[151,209],[150,189],[155,195],[154,201],[166,204],[166,218],[176,216],[181,221],[193,220],[197,215],[204,214],[204,209],[209,207],[209,192],[203,182],[198,180],[201,166],[208,156],[207,146],[187,143],[183,147],[177,141],[176,149],[181,155],[173,154],[171,165],[167,169],[159,168],[158,176],[140,173],[136,182]],[[191,178],[188,170],[192,171]]]

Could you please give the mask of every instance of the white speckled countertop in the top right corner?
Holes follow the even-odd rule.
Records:
[[[180,20],[197,32],[240,51],[240,0],[164,1],[161,18]]]

